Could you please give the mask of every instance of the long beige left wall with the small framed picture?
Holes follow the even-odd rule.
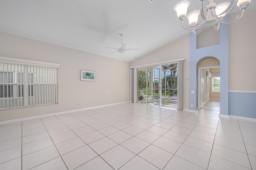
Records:
[[[2,32],[0,56],[60,63],[57,105],[0,111],[0,121],[131,100],[128,62]],[[96,81],[80,81],[81,69],[96,71]]]

